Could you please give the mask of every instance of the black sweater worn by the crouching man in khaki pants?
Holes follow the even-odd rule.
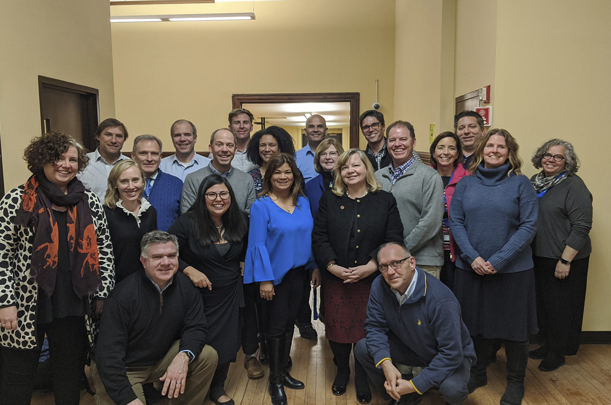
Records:
[[[202,295],[177,272],[159,295],[144,270],[125,278],[104,303],[95,361],[108,396],[117,404],[136,399],[127,367],[153,366],[176,340],[196,357],[206,340]]]

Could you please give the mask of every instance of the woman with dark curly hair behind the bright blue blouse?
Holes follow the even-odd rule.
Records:
[[[252,163],[259,166],[248,172],[255,182],[255,192],[257,195],[263,187],[262,180],[263,176],[265,176],[265,169],[267,168],[269,158],[279,152],[295,156],[293,138],[283,128],[272,125],[255,132],[255,135],[252,136],[246,149],[246,157]]]

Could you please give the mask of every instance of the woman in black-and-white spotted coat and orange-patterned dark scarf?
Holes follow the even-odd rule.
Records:
[[[32,176],[0,201],[0,403],[30,403],[46,333],[55,401],[77,405],[93,316],[114,284],[106,218],[76,179],[88,158],[75,139],[34,138],[24,159]]]

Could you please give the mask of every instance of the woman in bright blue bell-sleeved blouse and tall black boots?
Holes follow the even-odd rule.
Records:
[[[287,404],[284,387],[305,388],[288,374],[286,366],[303,285],[309,270],[319,273],[312,256],[310,204],[301,191],[298,173],[289,154],[269,159],[260,198],[251,207],[244,266],[244,283],[258,283],[266,300],[269,395],[274,405]]]

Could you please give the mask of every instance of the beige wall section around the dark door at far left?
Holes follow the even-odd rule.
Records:
[[[5,190],[29,176],[21,158],[39,136],[38,75],[100,91],[114,116],[108,0],[0,0],[0,132]]]

